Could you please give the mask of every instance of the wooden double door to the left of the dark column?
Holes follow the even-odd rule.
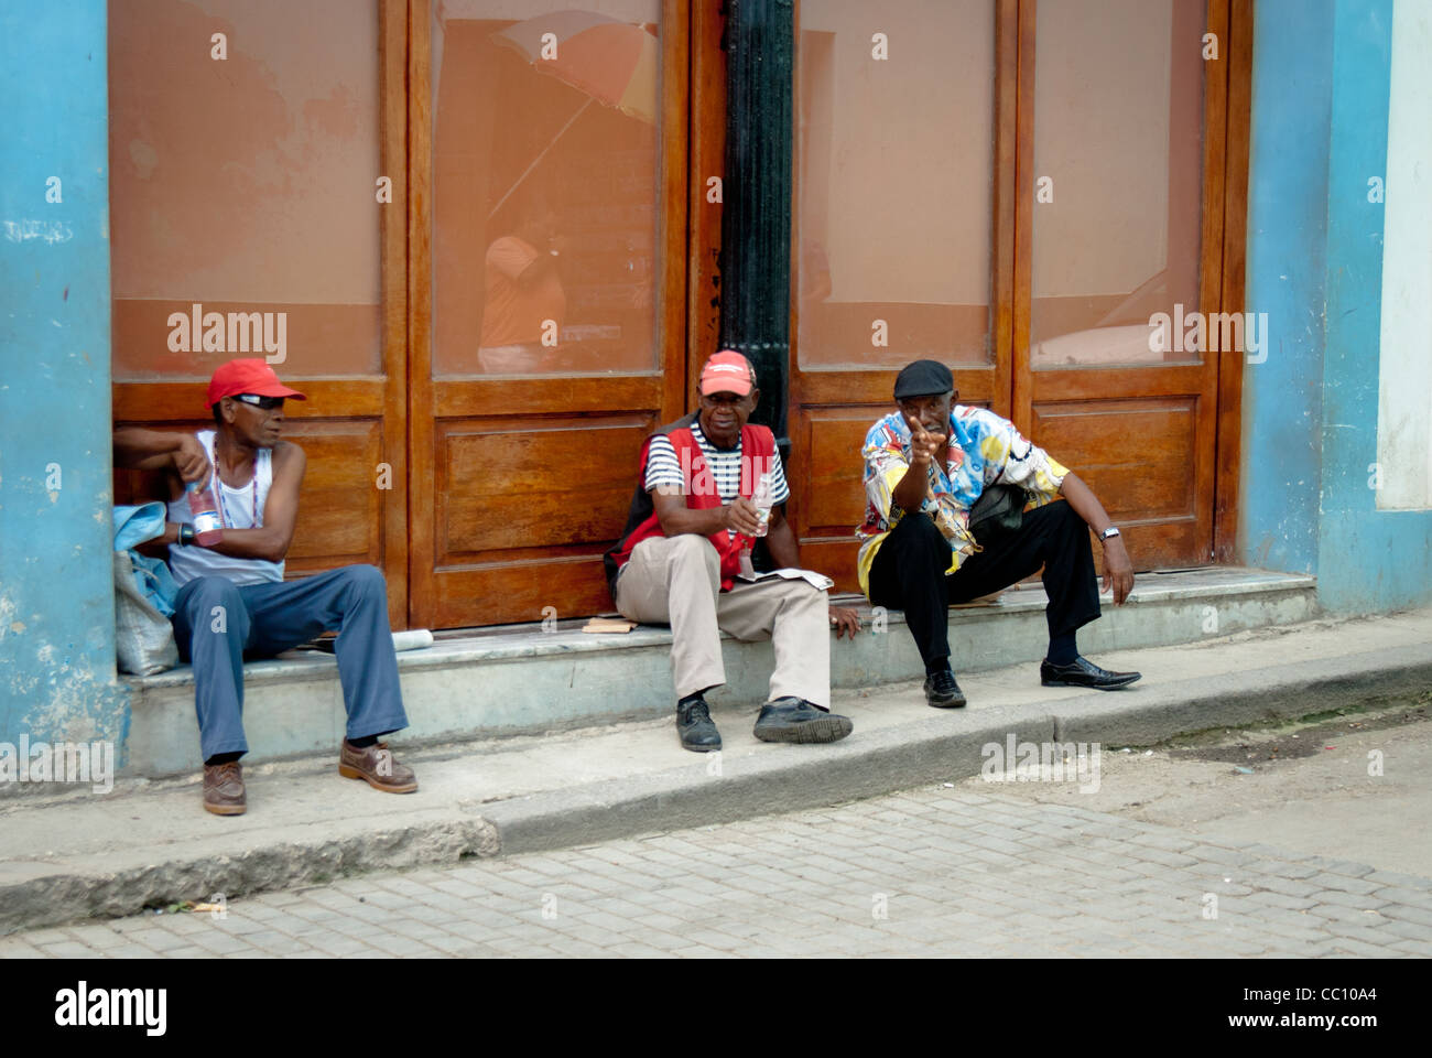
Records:
[[[266,356],[308,396],[289,575],[378,565],[395,628],[607,609],[640,443],[689,389],[689,24],[687,0],[113,0],[116,423],[212,426],[213,367]]]

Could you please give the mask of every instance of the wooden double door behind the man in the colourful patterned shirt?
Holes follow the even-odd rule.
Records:
[[[1154,354],[1150,324],[1242,308],[1229,93],[1247,34],[1229,0],[802,0],[790,462],[809,565],[855,589],[861,440],[922,357],[1080,473],[1136,568],[1213,558],[1240,354]]]

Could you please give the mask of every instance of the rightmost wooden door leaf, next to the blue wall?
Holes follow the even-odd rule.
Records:
[[[1021,0],[1020,22],[1012,419],[1136,568],[1206,565],[1220,357],[1184,321],[1223,304],[1229,6]]]

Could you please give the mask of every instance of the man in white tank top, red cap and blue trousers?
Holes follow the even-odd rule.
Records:
[[[281,440],[284,386],[261,358],[231,360],[209,380],[213,430],[198,434],[125,427],[115,432],[115,464],[165,470],[169,523],[152,543],[168,545],[175,641],[193,662],[195,711],[203,753],[203,807],[238,816],[246,807],[239,757],[243,737],[243,655],[271,657],[338,629],[335,652],[348,730],[338,771],[377,790],[411,793],[412,770],[379,735],[408,725],[388,628],[388,592],[372,566],[344,566],[284,581],[294,539],[304,450]],[[190,482],[213,489],[223,539],[200,548],[185,497]]]

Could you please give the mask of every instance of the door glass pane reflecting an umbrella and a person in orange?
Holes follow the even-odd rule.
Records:
[[[571,4],[434,4],[434,374],[657,366],[660,0]]]

